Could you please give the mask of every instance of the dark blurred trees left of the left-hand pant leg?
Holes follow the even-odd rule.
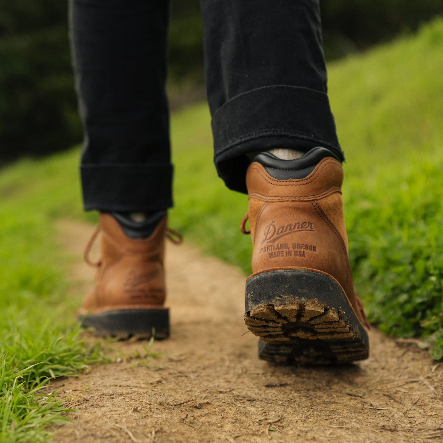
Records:
[[[0,160],[81,140],[66,16],[59,0],[0,3]]]

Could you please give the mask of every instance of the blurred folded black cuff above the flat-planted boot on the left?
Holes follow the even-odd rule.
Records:
[[[172,206],[171,164],[82,164],[85,210],[155,211]]]

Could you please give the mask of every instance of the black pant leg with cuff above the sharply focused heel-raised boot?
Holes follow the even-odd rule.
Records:
[[[245,153],[330,148],[341,159],[329,100],[319,0],[201,0],[214,161],[246,192]]]

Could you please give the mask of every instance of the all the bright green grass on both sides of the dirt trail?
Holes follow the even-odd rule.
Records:
[[[373,323],[427,338],[435,358],[443,352],[442,46],[439,19],[329,66],[356,288]],[[171,135],[171,226],[249,272],[250,238],[239,229],[247,198],[216,176],[207,106],[176,113]],[[21,161],[0,174],[0,441],[47,441],[44,429],[63,420],[63,407],[40,388],[99,358],[78,336],[80,295],[66,283],[54,229],[62,217],[96,220],[82,213],[78,155]]]

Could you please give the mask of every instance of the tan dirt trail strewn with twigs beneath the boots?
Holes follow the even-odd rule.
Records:
[[[89,225],[63,222],[78,257],[81,292],[93,271],[81,263]],[[245,277],[187,245],[167,249],[172,334],[112,345],[115,363],[54,383],[77,412],[56,442],[399,442],[443,438],[443,364],[415,343],[370,333],[371,355],[355,365],[277,366],[257,358],[243,324]],[[79,295],[80,297],[80,295]],[[120,355],[120,358],[118,357]]]

